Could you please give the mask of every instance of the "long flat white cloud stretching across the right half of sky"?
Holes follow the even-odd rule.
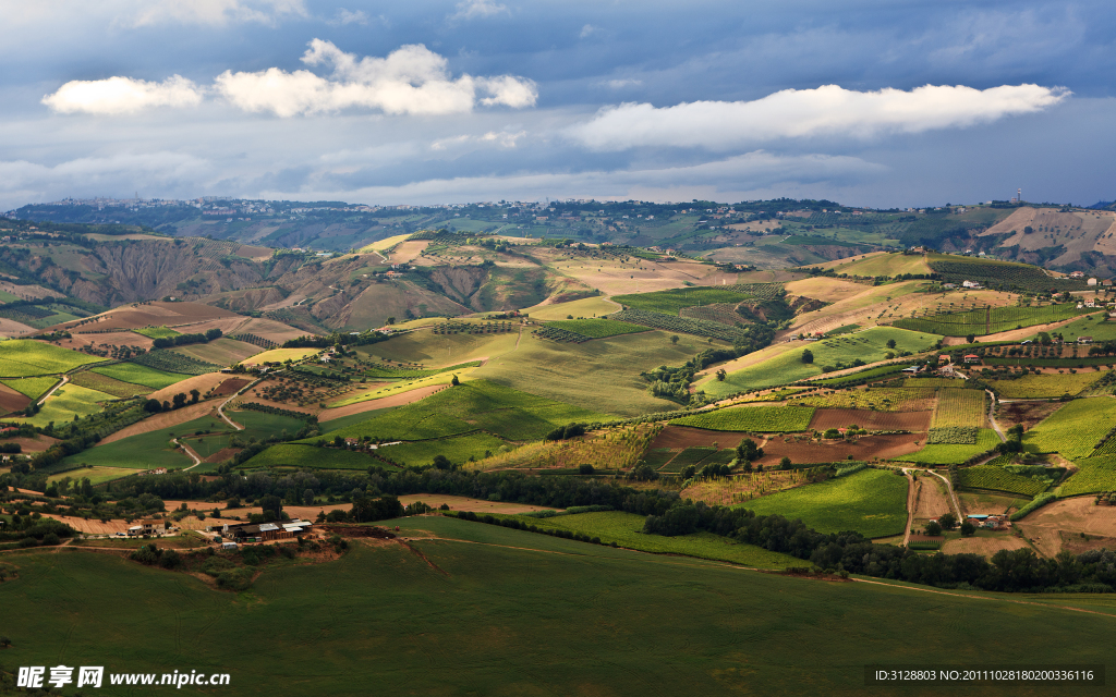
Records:
[[[597,151],[639,146],[731,149],[747,143],[811,136],[869,138],[889,133],[963,128],[1058,104],[1070,93],[1038,85],[980,90],[926,85],[903,91],[853,91],[836,85],[785,89],[754,101],[692,101],[656,108],[602,109],[568,134]]]

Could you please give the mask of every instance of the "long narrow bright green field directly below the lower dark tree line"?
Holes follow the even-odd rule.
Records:
[[[655,554],[684,554],[761,569],[786,569],[802,563],[800,559],[788,554],[770,552],[761,546],[743,544],[708,532],[674,538],[647,535],[642,532],[644,522],[642,515],[619,511],[578,513],[543,519],[523,515],[499,515],[497,517],[513,517],[543,530],[579,532],[590,538],[600,538],[600,542],[604,544],[615,542],[629,550]]]

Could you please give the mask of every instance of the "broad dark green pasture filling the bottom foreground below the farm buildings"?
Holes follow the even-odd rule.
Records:
[[[0,583],[12,641],[3,670],[228,672],[219,690],[176,690],[228,697],[859,696],[868,664],[966,662],[961,631],[991,638],[995,662],[1110,657],[1113,617],[1010,597],[800,580],[449,519],[385,524],[473,542],[412,542],[437,570],[398,545],[356,543],[337,562],[266,570],[239,594],[107,554],[6,555],[19,578]],[[949,693],[1029,694],[1014,685]],[[904,685],[879,694],[943,693]]]

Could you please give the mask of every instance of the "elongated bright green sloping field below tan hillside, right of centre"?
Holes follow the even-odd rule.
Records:
[[[790,349],[778,347],[778,354],[759,365],[730,372],[724,380],[709,380],[701,388],[713,396],[731,395],[740,391],[787,385],[797,380],[821,375],[824,366],[836,367],[838,362],[852,365],[855,360],[875,362],[885,360],[888,352],[906,350],[924,351],[934,346],[939,337],[892,327],[873,327],[853,335],[840,335],[821,341],[797,345]],[[887,347],[894,340],[895,348]],[[814,362],[802,362],[802,351],[809,349]]]

